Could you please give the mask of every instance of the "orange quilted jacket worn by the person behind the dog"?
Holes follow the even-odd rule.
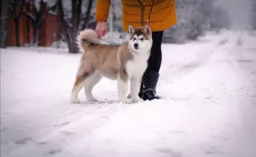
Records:
[[[121,0],[123,3],[122,20],[125,31],[129,25],[141,25],[142,5],[137,0]],[[144,0],[140,0],[142,3]],[[108,20],[111,0],[97,0],[96,21]],[[145,1],[143,25],[147,24],[152,0]],[[164,31],[176,24],[176,5],[174,0],[154,0],[149,25],[152,31]]]

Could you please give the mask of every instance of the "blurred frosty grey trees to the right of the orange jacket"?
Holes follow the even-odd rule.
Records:
[[[216,0],[178,0],[177,24],[167,29],[163,42],[184,43],[197,40],[207,31],[229,28],[229,14],[215,4]]]

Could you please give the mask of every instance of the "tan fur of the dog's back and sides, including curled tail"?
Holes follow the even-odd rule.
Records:
[[[79,47],[83,50],[81,66],[87,62],[90,70],[100,70],[104,76],[115,79],[120,70],[125,72],[125,64],[132,59],[128,44],[102,44],[95,31],[84,30],[78,36]]]

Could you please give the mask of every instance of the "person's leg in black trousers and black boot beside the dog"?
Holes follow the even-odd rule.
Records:
[[[139,97],[143,98],[144,100],[160,98],[158,95],[156,95],[155,88],[158,82],[162,61],[162,37],[163,31],[154,31],[152,33],[153,45],[151,48],[150,57],[148,59],[148,68],[143,75],[143,81],[139,93]]]

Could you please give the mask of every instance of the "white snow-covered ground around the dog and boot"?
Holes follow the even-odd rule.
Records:
[[[256,34],[224,31],[164,44],[161,100],[120,104],[116,81],[100,102],[70,104],[80,54],[1,49],[3,157],[255,157]],[[62,52],[61,52],[62,51]]]

